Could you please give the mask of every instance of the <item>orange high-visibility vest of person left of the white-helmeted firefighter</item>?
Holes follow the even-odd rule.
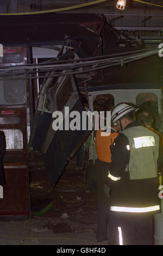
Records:
[[[114,143],[118,132],[112,132],[109,136],[101,136],[103,131],[99,129],[96,132],[96,152],[99,160],[103,162],[111,162],[111,150],[110,146]],[[106,132],[103,132],[107,135]]]

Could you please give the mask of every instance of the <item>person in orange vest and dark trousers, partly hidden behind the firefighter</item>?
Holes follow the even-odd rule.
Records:
[[[96,152],[98,159],[95,163],[95,180],[97,185],[97,241],[107,240],[107,224],[109,215],[109,188],[105,184],[108,175],[108,163],[111,162],[110,145],[114,143],[118,136],[116,126],[111,127],[111,132],[107,133],[99,129],[96,132]]]

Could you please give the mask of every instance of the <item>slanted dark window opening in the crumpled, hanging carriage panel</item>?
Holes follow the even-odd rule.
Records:
[[[61,109],[64,108],[66,102],[68,101],[68,99],[70,99],[72,92],[73,88],[71,83],[71,77],[68,76],[57,94],[57,110],[61,111]]]

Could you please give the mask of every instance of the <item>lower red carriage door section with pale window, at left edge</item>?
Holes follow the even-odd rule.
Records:
[[[6,140],[3,159],[5,185],[0,216],[28,217],[28,172],[26,159],[26,109],[1,108],[0,129]]]

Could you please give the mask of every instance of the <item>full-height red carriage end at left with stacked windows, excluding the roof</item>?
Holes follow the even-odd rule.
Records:
[[[27,63],[26,47],[5,47],[0,66]],[[28,83],[23,69],[1,71],[0,130],[4,132],[5,184],[0,198],[0,218],[28,218],[29,179],[27,168]],[[1,145],[0,145],[1,147]]]

